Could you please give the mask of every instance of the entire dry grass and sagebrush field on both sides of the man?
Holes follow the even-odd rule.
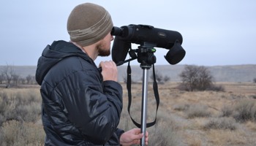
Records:
[[[127,112],[127,89],[119,128],[135,128]],[[149,145],[256,145],[256,84],[217,82],[224,92],[179,91],[177,82],[159,86],[157,124],[147,128]],[[132,84],[131,115],[140,123],[142,85]],[[0,88],[0,145],[43,145],[39,87]],[[148,84],[148,122],[156,103]]]

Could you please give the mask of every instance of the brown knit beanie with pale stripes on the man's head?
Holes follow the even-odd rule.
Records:
[[[83,47],[103,39],[112,28],[110,14],[97,4],[79,4],[72,10],[67,20],[70,40]]]

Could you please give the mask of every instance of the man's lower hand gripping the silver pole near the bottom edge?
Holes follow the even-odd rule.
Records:
[[[140,133],[140,128],[133,128],[124,134],[121,134],[120,144],[121,145],[140,145],[140,139],[142,139],[143,134]],[[146,132],[145,144],[148,145],[148,131]]]

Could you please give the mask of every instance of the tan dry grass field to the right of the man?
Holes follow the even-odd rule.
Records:
[[[160,105],[156,126],[147,128],[150,145],[227,146],[256,145],[256,84],[218,82],[225,92],[178,91],[177,83],[159,85]],[[124,89],[126,85],[124,85]],[[141,84],[132,85],[132,118],[140,122]],[[251,107],[250,107],[251,105]],[[154,120],[156,104],[148,86],[148,122]],[[252,114],[241,120],[239,114]],[[230,112],[230,114],[226,114]],[[232,113],[231,113],[232,112]],[[245,113],[244,113],[245,112]],[[127,112],[127,91],[121,126],[132,128]],[[237,118],[238,117],[238,118]],[[245,117],[246,118],[246,117]],[[126,125],[124,124],[126,121]]]

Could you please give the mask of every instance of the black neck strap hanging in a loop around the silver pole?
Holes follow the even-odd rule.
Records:
[[[128,107],[127,107],[127,110],[128,110],[128,113],[129,113],[129,117],[132,119],[132,122],[135,124],[135,126],[137,126],[138,128],[141,127],[141,125],[139,123],[137,123],[135,120],[133,120],[132,116],[130,115],[130,112],[129,112],[129,109],[131,107],[131,104],[132,104],[132,91],[131,91],[131,87],[132,87],[132,69],[131,69],[131,66],[129,66],[129,63],[128,63],[128,66],[127,66],[127,91],[128,91]],[[156,80],[156,76],[155,76],[155,72],[154,72],[154,64],[153,64],[153,77],[154,77],[154,83],[153,83],[153,90],[154,90],[154,96],[155,96],[155,99],[157,101],[157,110],[158,110],[158,107],[159,107],[159,93],[158,93],[158,86],[157,86],[157,80]],[[146,123],[146,127],[151,127],[151,126],[154,126],[154,124],[157,122],[157,111],[156,111],[156,117],[154,119],[153,122],[151,123]]]

